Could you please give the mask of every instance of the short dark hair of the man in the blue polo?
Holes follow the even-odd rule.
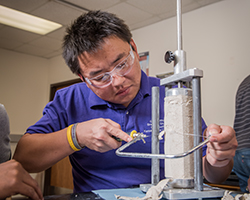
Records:
[[[132,38],[128,26],[115,14],[89,11],[79,16],[67,28],[63,40],[63,58],[71,71],[79,74],[78,56],[84,51],[94,52],[110,36],[116,36],[128,43]]]

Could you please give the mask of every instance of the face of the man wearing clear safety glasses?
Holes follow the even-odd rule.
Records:
[[[131,46],[134,49],[134,62],[131,70],[124,76],[112,73],[112,83],[106,87],[98,88],[87,83],[88,87],[101,99],[128,106],[140,89],[141,67],[138,59],[137,48],[133,40]],[[84,52],[78,57],[81,74],[91,80],[105,72],[110,72],[129,56],[131,48],[127,42],[109,37],[96,52]]]

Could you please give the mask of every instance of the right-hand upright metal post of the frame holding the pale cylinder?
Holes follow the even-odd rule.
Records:
[[[193,90],[193,128],[194,128],[194,146],[201,142],[202,125],[201,125],[201,95],[200,95],[200,78],[192,79]],[[202,178],[202,150],[194,152],[194,189],[203,190]]]

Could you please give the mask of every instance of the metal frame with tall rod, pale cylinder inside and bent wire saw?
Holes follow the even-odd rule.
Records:
[[[159,159],[165,159],[165,177],[170,184],[163,190],[166,199],[202,199],[222,197],[224,190],[203,183],[201,147],[209,142],[201,142],[201,92],[200,79],[203,71],[186,69],[186,52],[182,50],[181,0],[177,0],[177,50],[166,52],[165,61],[174,61],[174,74],[161,79],[165,86],[164,134],[165,154],[159,154],[159,87],[152,88],[152,152],[122,152],[145,135],[138,134],[131,142],[117,149],[116,154],[124,157],[151,158],[151,184],[142,184],[146,192],[159,180]],[[183,87],[188,83],[191,88]],[[172,88],[173,85],[177,88]],[[167,112],[165,112],[167,110]]]

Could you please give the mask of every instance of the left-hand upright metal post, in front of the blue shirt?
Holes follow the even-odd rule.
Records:
[[[152,154],[159,154],[159,87],[152,87]],[[158,158],[151,160],[151,184],[160,181],[160,161]]]

